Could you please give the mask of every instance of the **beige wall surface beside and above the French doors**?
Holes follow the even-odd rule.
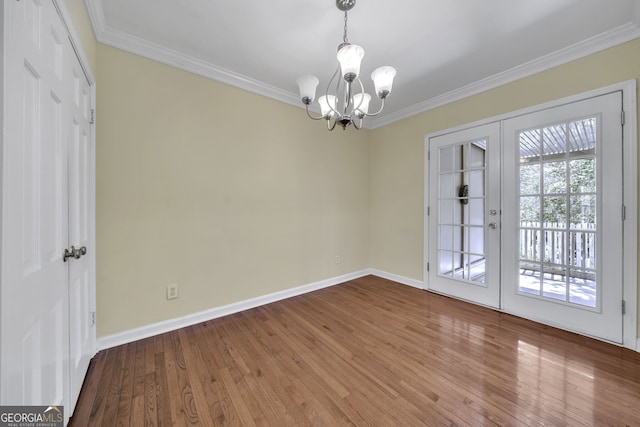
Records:
[[[371,263],[423,279],[424,137],[640,78],[640,40],[376,129],[371,138]]]

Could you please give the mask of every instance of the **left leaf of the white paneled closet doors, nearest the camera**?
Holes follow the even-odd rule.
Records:
[[[51,1],[4,2],[2,404],[67,405],[67,127],[73,55]],[[8,103],[7,103],[8,101]],[[65,414],[68,417],[68,414]]]

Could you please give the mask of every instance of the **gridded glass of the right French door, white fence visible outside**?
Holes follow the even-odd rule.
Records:
[[[521,131],[520,293],[597,305],[596,118]]]

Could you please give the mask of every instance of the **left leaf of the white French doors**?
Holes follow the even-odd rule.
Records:
[[[430,140],[429,289],[500,307],[500,123]]]

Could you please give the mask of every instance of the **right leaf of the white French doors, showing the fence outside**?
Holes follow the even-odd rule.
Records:
[[[506,120],[503,162],[504,310],[617,343],[621,111],[615,92]]]

